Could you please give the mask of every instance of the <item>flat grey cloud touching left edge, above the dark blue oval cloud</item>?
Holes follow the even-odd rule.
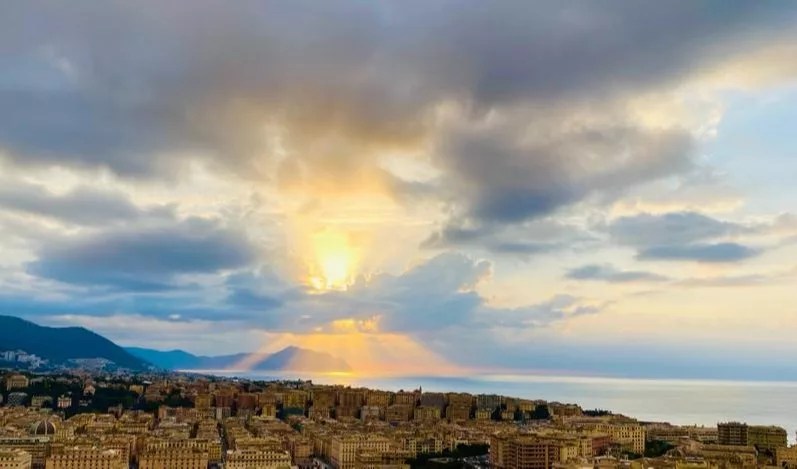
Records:
[[[16,181],[0,182],[0,208],[87,226],[174,217],[174,207],[140,208],[121,192],[80,186],[54,194],[44,186]]]

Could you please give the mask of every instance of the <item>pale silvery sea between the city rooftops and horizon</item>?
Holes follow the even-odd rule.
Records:
[[[736,420],[751,425],[778,425],[795,442],[797,382],[618,379],[531,375],[469,377],[365,377],[284,373],[212,372],[246,379],[312,379],[319,384],[365,386],[391,391],[422,388],[434,392],[501,394],[579,404],[642,421],[713,426]]]

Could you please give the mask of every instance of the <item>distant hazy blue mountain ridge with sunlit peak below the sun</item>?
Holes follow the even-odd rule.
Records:
[[[251,360],[251,354],[237,353],[215,357],[192,355],[183,350],[160,351],[138,347],[125,350],[146,360],[159,368],[170,370],[222,370],[235,369],[244,360]],[[303,371],[334,372],[351,371],[344,360],[328,353],[299,347],[286,347],[279,352],[266,355],[247,363],[247,369],[258,371]]]

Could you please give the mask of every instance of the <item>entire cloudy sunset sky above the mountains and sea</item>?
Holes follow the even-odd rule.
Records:
[[[0,4],[0,314],[797,379],[797,4]]]

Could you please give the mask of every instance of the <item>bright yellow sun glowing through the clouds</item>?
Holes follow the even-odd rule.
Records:
[[[323,230],[312,237],[310,284],[317,290],[345,290],[352,281],[357,253],[346,233]]]

